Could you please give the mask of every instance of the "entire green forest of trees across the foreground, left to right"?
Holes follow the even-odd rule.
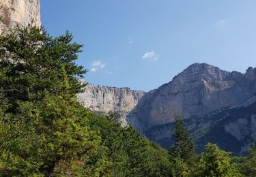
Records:
[[[216,144],[197,155],[182,118],[161,148],[113,114],[76,99],[82,45],[26,27],[0,36],[0,176],[256,176],[256,148],[234,157]]]

